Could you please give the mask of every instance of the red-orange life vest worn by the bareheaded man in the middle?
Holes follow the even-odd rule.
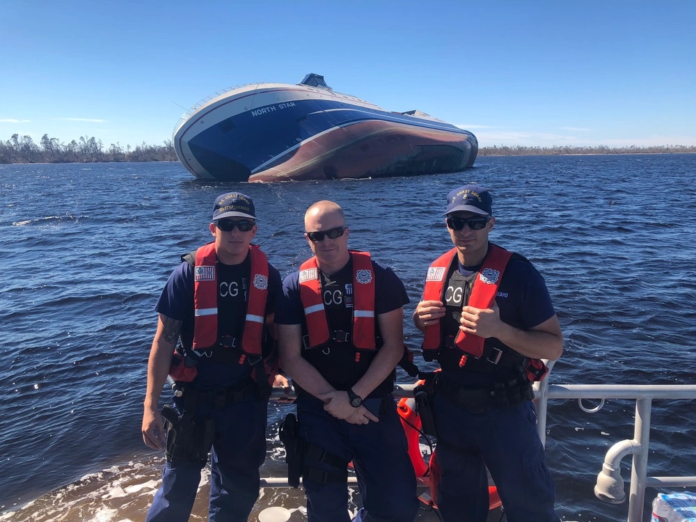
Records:
[[[353,260],[353,331],[351,344],[362,350],[376,348],[374,338],[374,271],[367,252],[351,251]],[[329,320],[322,298],[322,280],[317,258],[302,263],[299,272],[300,300],[307,319],[310,348],[329,342]]]

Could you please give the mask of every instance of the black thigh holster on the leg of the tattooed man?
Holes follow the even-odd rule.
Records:
[[[195,419],[193,413],[185,410],[180,415],[169,404],[162,408],[162,418],[166,420],[167,461],[198,464],[203,468],[215,438],[214,420]]]

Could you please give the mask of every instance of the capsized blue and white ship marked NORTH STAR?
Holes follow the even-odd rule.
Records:
[[[173,143],[194,176],[244,182],[457,172],[478,152],[471,132],[335,93],[319,74],[208,97],[184,113]]]

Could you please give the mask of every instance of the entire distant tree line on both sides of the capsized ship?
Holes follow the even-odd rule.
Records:
[[[696,146],[658,145],[654,147],[592,147],[555,146],[527,147],[523,145],[493,145],[479,149],[479,156],[537,156],[569,154],[674,154],[696,153]],[[13,134],[7,141],[0,140],[0,164],[8,163],[99,163],[102,161],[177,161],[172,142],[162,145],[136,145],[123,148],[120,143],[111,143],[104,148],[102,140],[81,136],[79,140],[63,143],[44,134],[40,143],[31,136]]]

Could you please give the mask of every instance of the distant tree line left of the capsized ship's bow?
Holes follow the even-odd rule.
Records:
[[[102,161],[177,161],[171,141],[163,145],[136,145],[123,148],[111,143],[105,149],[102,140],[81,136],[77,141],[63,143],[44,134],[40,143],[31,136],[13,134],[7,141],[0,140],[0,164],[7,163],[98,163]]]

